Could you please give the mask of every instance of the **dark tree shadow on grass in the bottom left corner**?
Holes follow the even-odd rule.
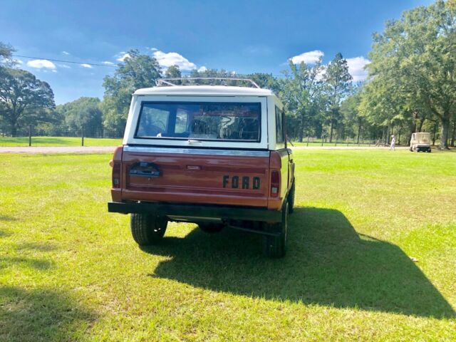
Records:
[[[61,291],[0,286],[0,341],[69,341],[94,319]]]

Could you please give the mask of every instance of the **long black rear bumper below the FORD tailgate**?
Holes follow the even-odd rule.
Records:
[[[279,210],[207,204],[108,202],[108,212],[207,217],[214,219],[243,219],[271,223],[281,222],[281,212]]]

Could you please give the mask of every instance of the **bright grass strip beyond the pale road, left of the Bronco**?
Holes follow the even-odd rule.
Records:
[[[81,146],[81,137],[32,137],[32,146]],[[122,139],[84,138],[84,146],[118,146]],[[0,137],[0,146],[28,146],[28,137]]]

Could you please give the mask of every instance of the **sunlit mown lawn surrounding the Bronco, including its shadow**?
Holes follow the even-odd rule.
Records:
[[[110,155],[1,155],[0,341],[455,341],[456,152],[294,155],[277,260],[194,224],[138,248]]]

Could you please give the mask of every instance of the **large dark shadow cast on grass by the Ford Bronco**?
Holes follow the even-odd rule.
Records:
[[[334,209],[296,208],[284,259],[261,256],[261,237],[193,230],[143,249],[170,256],[150,276],[214,291],[435,318],[455,311],[394,244],[357,234]]]

